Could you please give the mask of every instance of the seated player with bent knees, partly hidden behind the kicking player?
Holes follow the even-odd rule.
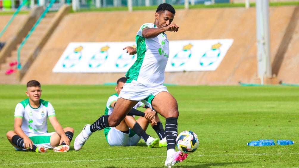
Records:
[[[110,114],[113,111],[118,99],[118,94],[122,90],[126,80],[127,78],[125,77],[118,79],[117,85],[115,87],[117,93],[108,98],[105,114]],[[105,128],[104,134],[110,146],[134,146],[140,141],[141,138],[148,147],[154,147],[157,144],[159,144],[160,147],[166,146],[163,125],[158,115],[150,108],[147,108],[145,112],[136,110],[137,107],[141,106],[145,107],[143,103],[138,102],[117,127]],[[141,117],[139,117],[136,121],[133,115],[138,115]],[[145,132],[149,122],[151,122],[152,128],[157,132],[160,141],[158,138],[155,139]],[[89,127],[90,125],[87,124],[81,133],[85,135],[85,131],[90,130]],[[74,145],[74,148],[77,150],[76,145]]]

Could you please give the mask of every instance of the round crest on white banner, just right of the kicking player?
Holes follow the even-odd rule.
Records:
[[[173,67],[181,67],[187,61],[189,61],[189,59],[191,57],[191,48],[192,47],[193,47],[192,44],[185,45],[183,47],[183,50],[179,51],[179,53],[177,53],[173,57],[173,59],[171,61],[171,66],[173,66]]]

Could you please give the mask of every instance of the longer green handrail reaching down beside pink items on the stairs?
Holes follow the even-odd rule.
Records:
[[[47,8],[45,9],[45,11],[42,13],[42,15],[39,17],[39,19],[36,21],[36,23],[33,25],[33,27],[31,28],[31,30],[29,31],[29,33],[27,34],[27,36],[25,37],[25,39],[22,41],[21,45],[18,48],[18,69],[21,69],[21,62],[20,62],[20,52],[21,49],[23,48],[23,46],[25,45],[25,43],[27,42],[28,38],[31,36],[31,34],[33,33],[33,31],[36,29],[36,27],[39,25],[40,21],[45,17],[45,15],[48,13],[49,9],[52,7],[52,5],[54,4],[56,0],[51,0],[49,5],[47,6]]]

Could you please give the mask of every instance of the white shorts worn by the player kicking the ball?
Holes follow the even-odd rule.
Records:
[[[118,98],[141,101],[152,109],[152,99],[160,92],[168,92],[166,87],[161,84],[154,87],[147,87],[138,81],[125,83],[120,91]]]

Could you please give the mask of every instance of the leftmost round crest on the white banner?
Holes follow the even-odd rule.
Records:
[[[75,48],[74,52],[69,53],[63,60],[62,67],[64,68],[71,68],[74,67],[76,64],[79,63],[82,57],[82,50],[83,47]]]

